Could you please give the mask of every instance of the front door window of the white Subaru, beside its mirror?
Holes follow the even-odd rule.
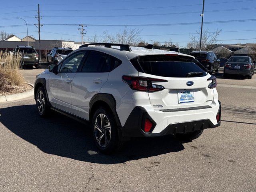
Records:
[[[86,52],[84,51],[84,52],[78,52],[73,55],[70,55],[68,58],[66,58],[62,62],[59,72],[65,72],[65,73],[76,72],[79,65],[82,62],[82,59],[85,53]]]

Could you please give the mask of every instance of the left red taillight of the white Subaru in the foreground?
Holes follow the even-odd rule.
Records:
[[[155,92],[164,89],[162,85],[152,84],[152,82],[168,82],[167,80],[137,77],[137,76],[122,76],[123,82],[126,82],[131,89],[138,91]]]

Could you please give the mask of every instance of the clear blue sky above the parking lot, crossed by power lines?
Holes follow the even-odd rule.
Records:
[[[232,2],[231,2],[232,1]],[[234,2],[238,1],[238,2]],[[230,2],[221,4],[212,4],[219,2]],[[21,19],[6,19],[24,17],[28,24],[37,23],[33,18],[36,15],[35,10],[40,4],[41,23],[42,24],[166,24],[166,23],[190,23],[201,22],[200,13],[202,11],[202,0],[9,0],[1,3],[0,7],[0,26],[24,24]],[[198,5],[195,5],[198,4]],[[192,5],[192,6],[187,6]],[[162,8],[154,8],[162,7]],[[129,8],[150,8],[150,9],[130,9],[130,10],[102,10],[102,9],[129,9]],[[250,9],[248,9],[250,8]],[[221,12],[208,12],[212,10],[226,9],[246,9]],[[31,10],[31,11],[30,11]],[[51,10],[51,11],[47,11]],[[62,10],[62,11],[52,11]],[[83,10],[83,11],[66,11]],[[94,10],[94,11],[92,11]],[[95,11],[97,10],[97,11]],[[100,10],[100,11],[98,11]],[[25,12],[28,11],[28,12]],[[10,13],[19,12],[19,13]],[[169,14],[180,13],[184,14]],[[197,13],[188,13],[197,12]],[[256,0],[205,0],[204,21],[223,21],[223,20],[246,20],[256,19]],[[5,14],[8,13],[8,14]],[[112,16],[112,15],[136,15],[136,14],[165,14],[155,16],[127,16],[127,17],[92,17],[92,16]],[[168,15],[169,14],[169,15]],[[44,17],[44,16],[90,16],[90,17]],[[73,40],[80,41],[78,26],[49,26],[41,27],[41,39],[51,40]],[[101,35],[102,31],[108,30],[115,33],[124,27],[120,26],[87,26],[86,36],[92,36],[94,32]],[[134,28],[134,27],[130,27]],[[179,26],[138,26],[142,29],[141,35],[159,35],[159,34],[182,34],[194,33],[199,30],[200,24],[179,25]],[[254,30],[246,32],[223,32],[219,35],[219,40],[225,39],[244,39],[255,38],[254,40],[231,40],[220,41],[219,43],[255,43],[256,42],[256,21],[251,22],[230,22],[204,24],[204,28],[210,31],[222,29],[223,31],[233,30]],[[6,30],[10,34],[16,34],[20,38],[26,36],[26,26],[0,27],[0,30]],[[28,26],[29,35],[34,35],[38,39],[36,26]],[[24,32],[24,33],[21,33]],[[63,33],[70,35],[50,34],[46,32]],[[71,36],[74,35],[74,36]],[[87,39],[85,36],[85,40]],[[167,36],[141,36],[146,42],[169,41],[183,42],[190,41],[189,35],[167,35]],[[186,46],[186,43],[179,43],[180,46]]]

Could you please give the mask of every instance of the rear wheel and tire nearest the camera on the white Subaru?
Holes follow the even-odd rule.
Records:
[[[91,129],[94,142],[100,152],[112,154],[122,147],[118,137],[118,127],[110,110],[98,108],[93,114]]]

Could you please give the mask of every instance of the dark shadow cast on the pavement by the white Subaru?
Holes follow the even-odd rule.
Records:
[[[88,126],[57,112],[41,118],[35,105],[1,108],[0,122],[45,153],[85,162],[124,163],[184,149],[182,142],[173,136],[136,138],[126,142],[120,152],[104,155],[97,152]]]

